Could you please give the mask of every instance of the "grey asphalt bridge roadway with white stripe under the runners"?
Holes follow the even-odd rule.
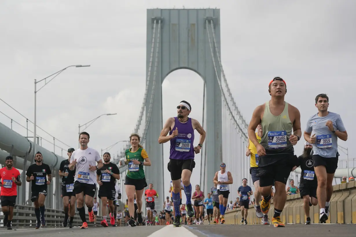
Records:
[[[285,228],[275,228],[264,225],[189,225],[182,227],[169,226],[137,226],[137,227],[89,227],[80,230],[79,227],[69,228],[20,228],[6,230],[0,228],[1,237],[261,237],[261,236],[288,236],[288,237],[355,237],[354,224],[292,224]]]

